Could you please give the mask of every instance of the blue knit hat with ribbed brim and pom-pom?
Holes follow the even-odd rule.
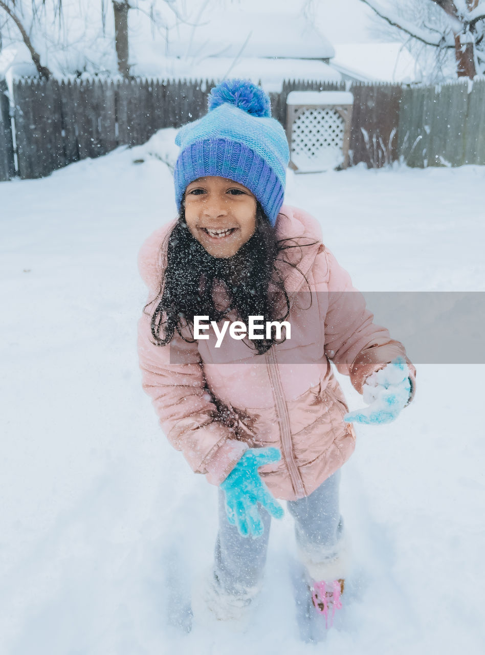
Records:
[[[194,179],[220,176],[247,187],[272,225],[285,194],[289,162],[285,130],[271,118],[270,99],[247,80],[226,80],[211,90],[209,112],[184,125],[175,143],[175,200],[181,208]]]

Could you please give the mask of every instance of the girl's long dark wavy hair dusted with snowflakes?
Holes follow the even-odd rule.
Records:
[[[285,260],[283,252],[287,248],[301,246],[295,240],[276,239],[276,230],[258,202],[253,236],[232,257],[213,257],[190,234],[182,205],[177,223],[161,248],[166,250],[167,265],[162,271],[158,295],[152,301],[157,303],[151,317],[154,343],[167,345],[175,330],[185,341],[193,342],[194,316],[209,316],[209,321],[219,322],[236,314],[245,324],[249,316],[263,316],[264,321],[285,320],[290,301],[276,262],[298,269],[298,265]],[[221,284],[226,303],[216,307],[214,291]],[[274,333],[270,339],[248,341],[258,354],[280,343]],[[281,341],[285,341],[284,336]]]

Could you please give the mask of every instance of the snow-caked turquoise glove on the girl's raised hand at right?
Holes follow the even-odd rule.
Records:
[[[368,407],[350,412],[344,421],[384,424],[397,419],[409,400],[411,383],[409,369],[403,357],[397,357],[380,371],[372,373],[363,386]]]

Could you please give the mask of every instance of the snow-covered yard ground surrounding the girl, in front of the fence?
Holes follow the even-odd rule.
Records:
[[[357,428],[342,475],[354,550],[344,631],[299,641],[287,516],[249,633],[170,624],[216,531],[216,489],[166,443],[135,352],[137,250],[175,214],[155,156],[170,159],[171,136],[0,184],[0,651],[485,652],[483,365],[417,362],[399,421]],[[478,166],[357,167],[290,174],[287,202],[317,215],[358,288],[484,291],[484,185]]]

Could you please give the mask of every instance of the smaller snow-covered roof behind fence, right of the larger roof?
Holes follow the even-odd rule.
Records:
[[[419,81],[416,62],[402,43],[336,43],[332,66],[356,79]]]

